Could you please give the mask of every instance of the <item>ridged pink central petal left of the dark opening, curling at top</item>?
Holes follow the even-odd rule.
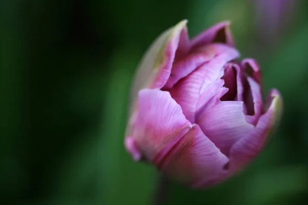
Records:
[[[202,87],[207,87],[209,84],[218,80],[223,74],[223,66],[227,61],[239,55],[234,48],[225,45],[214,44],[210,45],[208,48],[216,48],[220,52],[214,59],[180,80],[179,83],[170,90],[172,98],[181,106],[184,115],[191,123],[195,121],[196,107],[199,102]]]

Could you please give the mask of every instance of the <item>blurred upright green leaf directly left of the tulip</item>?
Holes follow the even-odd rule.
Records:
[[[123,142],[130,79],[139,56],[134,47],[126,45],[117,49],[111,60],[110,68],[114,72],[106,95],[99,154],[99,161],[102,161],[100,169],[104,174],[104,204],[148,204],[152,197],[155,170],[143,163],[133,162]]]

